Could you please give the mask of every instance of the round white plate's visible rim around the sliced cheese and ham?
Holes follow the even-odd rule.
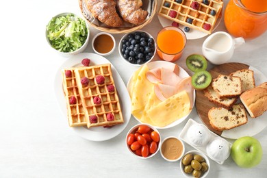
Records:
[[[164,67],[164,66],[168,66],[168,65],[173,65],[172,62],[166,62],[166,61],[154,61],[154,62],[149,62],[147,64],[149,69],[153,69],[153,68],[158,68],[158,67]],[[189,77],[190,75],[188,75],[188,73],[179,66],[179,77],[184,78],[184,77]],[[127,83],[127,90],[129,91],[129,88],[131,86],[131,80],[132,80],[133,76],[131,76],[131,78],[129,79],[128,83]],[[193,101],[195,101],[196,99],[196,92],[194,90],[194,96],[193,96]],[[194,103],[192,105],[192,108],[194,107]],[[192,110],[190,111],[192,112]],[[190,114],[190,112],[188,113],[188,115]],[[157,127],[157,126],[153,126],[157,129],[168,129],[170,127],[175,127],[176,125],[179,125],[179,123],[182,123],[183,120],[186,120],[186,118],[188,118],[188,115],[183,116],[182,118],[179,118],[178,120],[176,120],[173,123],[170,123],[169,125],[166,125],[165,127]],[[134,118],[136,118],[135,116],[133,116]],[[136,120],[138,120],[139,123],[142,123],[138,118],[136,118]]]

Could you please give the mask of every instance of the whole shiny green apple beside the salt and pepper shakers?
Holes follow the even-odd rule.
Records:
[[[242,168],[252,168],[262,161],[262,145],[251,137],[238,138],[231,147],[231,157]]]

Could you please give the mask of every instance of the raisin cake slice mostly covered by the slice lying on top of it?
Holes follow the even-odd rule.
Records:
[[[209,85],[205,90],[203,90],[203,92],[210,102],[218,105],[219,107],[224,107],[227,110],[229,110],[238,100],[237,97],[220,98],[217,92],[212,88],[212,85]]]

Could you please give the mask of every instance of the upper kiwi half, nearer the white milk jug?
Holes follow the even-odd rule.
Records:
[[[192,54],[186,58],[186,66],[194,73],[205,71],[207,68],[207,60],[203,55]]]

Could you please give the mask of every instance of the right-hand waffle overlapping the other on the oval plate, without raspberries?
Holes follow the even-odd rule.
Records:
[[[88,128],[124,122],[110,64],[75,68],[75,75]],[[104,84],[97,84],[98,75],[105,77]],[[88,86],[81,84],[82,77],[87,77]],[[114,86],[113,92],[107,90],[110,85]],[[95,104],[94,97],[99,97],[101,103]],[[107,114],[112,114],[114,120],[108,120]],[[97,116],[97,122],[92,123],[90,116]]]

